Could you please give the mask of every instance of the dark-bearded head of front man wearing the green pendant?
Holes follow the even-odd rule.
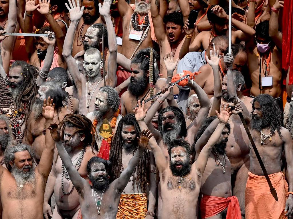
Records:
[[[95,190],[103,191],[109,186],[111,162],[100,157],[92,157],[86,166],[86,172]]]

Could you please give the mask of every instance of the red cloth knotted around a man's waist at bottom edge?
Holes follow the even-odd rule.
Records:
[[[226,219],[241,219],[241,210],[236,196],[228,198],[204,195],[200,201],[201,218],[210,218],[227,209]]]

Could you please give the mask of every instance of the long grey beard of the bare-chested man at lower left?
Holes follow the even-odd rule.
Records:
[[[26,168],[28,166],[23,166],[23,168],[19,169],[15,166],[12,167],[11,170],[11,175],[13,176],[13,178],[16,181],[16,185],[18,189],[22,189],[23,185],[25,184],[30,184],[35,186],[36,185],[36,178],[35,178],[35,169],[30,167],[29,171],[24,172],[23,169]]]

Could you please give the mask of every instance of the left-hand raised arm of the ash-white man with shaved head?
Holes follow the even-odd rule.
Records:
[[[74,84],[80,87],[82,77],[84,76],[79,72],[78,66],[71,55],[71,50],[72,50],[72,45],[74,41],[74,32],[79,23],[79,20],[81,19],[83,15],[84,6],[79,8],[79,1],[77,1],[77,6],[76,6],[74,0],[69,0],[69,6],[67,5],[67,3],[65,3],[65,6],[69,10],[71,23],[69,25],[67,34],[65,36],[62,55],[67,63],[67,67],[74,81]]]

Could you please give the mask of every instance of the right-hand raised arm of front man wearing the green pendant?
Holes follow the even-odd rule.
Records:
[[[137,166],[139,160],[142,157],[142,153],[144,150],[147,150],[147,145],[149,142],[149,139],[151,138],[152,134],[151,131],[143,130],[140,137],[137,137],[138,140],[138,149],[136,150],[134,156],[130,159],[127,168],[122,171],[120,177],[116,181],[116,190],[119,193],[122,193],[125,189],[125,186],[129,182],[129,178],[131,177],[131,174],[133,173],[135,167]]]

